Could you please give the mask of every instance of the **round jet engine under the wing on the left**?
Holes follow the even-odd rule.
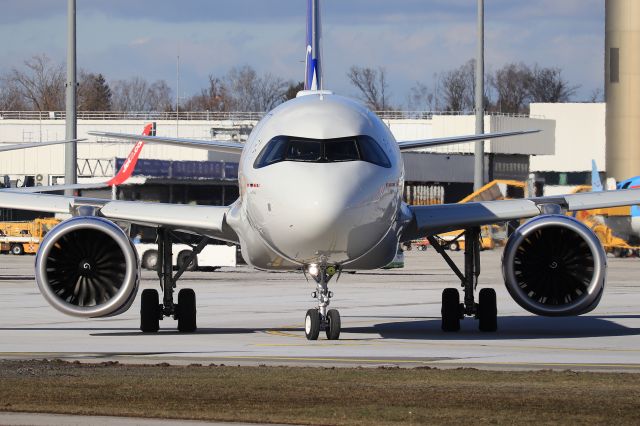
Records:
[[[140,265],[131,240],[116,224],[94,216],[68,219],[47,233],[36,255],[36,282],[57,310],[106,317],[131,306]]]

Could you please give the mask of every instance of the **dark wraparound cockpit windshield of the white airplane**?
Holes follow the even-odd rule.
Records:
[[[253,166],[259,169],[281,161],[366,161],[381,167],[391,167],[391,162],[382,148],[372,137],[366,135],[338,139],[276,136],[263,148]]]

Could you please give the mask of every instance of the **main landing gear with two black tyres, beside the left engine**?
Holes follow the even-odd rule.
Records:
[[[160,320],[173,317],[178,320],[178,331],[191,333],[196,331],[196,293],[190,288],[183,288],[178,292],[178,303],[173,302],[173,292],[176,282],[189,269],[192,261],[207,245],[205,237],[195,246],[186,261],[179,264],[179,269],[173,275],[172,233],[165,228],[158,228],[158,262],[157,271],[160,278],[160,288],[163,292],[162,303],[155,289],[145,289],[140,300],[140,330],[145,333],[155,333],[160,328]]]

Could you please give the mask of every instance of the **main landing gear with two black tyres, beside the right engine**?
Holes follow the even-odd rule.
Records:
[[[469,228],[464,231],[464,274],[435,237],[428,237],[428,240],[460,278],[464,291],[463,303],[460,303],[460,293],[457,288],[445,288],[442,292],[442,330],[458,331],[461,319],[474,317],[478,320],[480,331],[496,331],[498,329],[496,291],[492,288],[483,288],[478,294],[478,302],[474,300],[474,292],[480,276],[480,229]]]

